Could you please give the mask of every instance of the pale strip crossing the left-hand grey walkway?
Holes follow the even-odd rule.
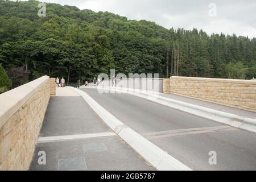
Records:
[[[113,132],[107,133],[92,133],[92,134],[81,134],[81,135],[65,135],[65,136],[54,136],[54,137],[39,137],[38,143],[56,142],[59,140],[74,140],[74,139],[85,139],[85,138],[96,138],[96,137],[110,137],[115,136]]]

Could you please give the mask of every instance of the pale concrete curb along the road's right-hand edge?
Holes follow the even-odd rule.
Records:
[[[88,87],[88,88],[96,89],[97,87],[96,88]],[[198,115],[200,117],[211,119],[213,121],[216,121],[225,125],[233,126],[238,129],[247,130],[247,131],[256,133],[256,119],[253,119],[253,118],[245,118],[236,114],[225,113],[223,111],[209,109],[207,107],[193,105],[187,102],[173,100],[171,98],[159,96],[159,94],[155,92],[147,92],[144,90],[142,91],[137,89],[127,89],[127,88],[110,88],[110,87],[102,87],[102,86],[100,86],[99,88],[112,90],[119,93],[121,92],[129,93],[134,96],[146,98],[147,100],[151,100],[158,104],[162,104],[177,110],[184,111],[186,113]]]

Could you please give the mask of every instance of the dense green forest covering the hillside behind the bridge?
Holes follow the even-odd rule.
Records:
[[[68,82],[98,73],[160,77],[256,77],[256,39],[203,30],[170,30],[108,12],[0,0],[0,64],[13,86],[42,75]]]

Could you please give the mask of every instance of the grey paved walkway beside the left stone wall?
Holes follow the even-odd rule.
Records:
[[[91,136],[86,138],[88,134]],[[102,134],[105,137],[100,137]],[[38,155],[40,151],[46,154],[46,165],[38,163],[42,156],[42,153]],[[57,88],[57,96],[50,98],[47,107],[30,170],[130,171],[154,168],[110,131],[82,97],[72,90]]]

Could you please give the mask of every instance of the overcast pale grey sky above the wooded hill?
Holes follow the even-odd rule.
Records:
[[[109,11],[128,19],[146,19],[175,29],[193,27],[208,34],[224,32],[256,37],[256,0],[44,0],[79,9]],[[216,11],[214,5],[216,5]],[[210,5],[210,6],[209,6]],[[47,8],[47,5],[46,5]],[[46,9],[47,10],[47,9]],[[210,15],[209,15],[210,14]]]

